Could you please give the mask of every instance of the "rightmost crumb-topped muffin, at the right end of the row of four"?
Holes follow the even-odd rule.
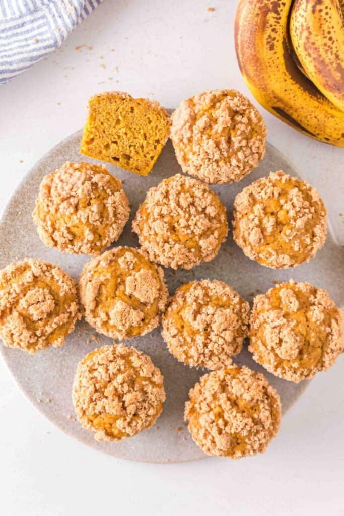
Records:
[[[270,373],[298,383],[336,362],[344,351],[342,325],[324,289],[290,280],[254,299],[249,350]]]

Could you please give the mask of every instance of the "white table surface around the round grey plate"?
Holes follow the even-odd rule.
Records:
[[[83,125],[95,92],[120,89],[166,107],[209,88],[237,88],[252,99],[234,52],[236,3],[105,0],[61,50],[2,86],[0,209],[31,165]],[[320,190],[343,234],[343,150],[262,111],[269,141]],[[154,465],[116,460],[65,436],[29,404],[0,361],[1,513],[342,514],[343,375],[343,358],[318,375],[265,455]]]

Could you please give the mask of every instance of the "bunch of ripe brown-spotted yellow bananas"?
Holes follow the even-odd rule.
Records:
[[[239,0],[235,47],[257,101],[344,147],[344,0]]]

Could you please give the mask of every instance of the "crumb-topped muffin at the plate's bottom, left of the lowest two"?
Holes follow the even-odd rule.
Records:
[[[134,347],[104,346],[78,363],[73,405],[96,441],[118,442],[150,428],[165,397],[160,370]]]

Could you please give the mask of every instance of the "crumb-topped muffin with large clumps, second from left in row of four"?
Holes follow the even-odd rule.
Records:
[[[118,339],[156,328],[168,299],[161,267],[130,247],[116,247],[87,262],[79,293],[87,322]]]

